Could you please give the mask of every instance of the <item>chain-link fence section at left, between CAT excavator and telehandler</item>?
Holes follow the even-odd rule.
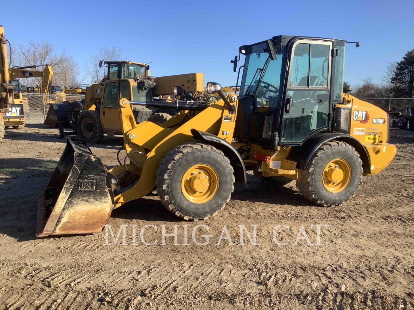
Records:
[[[43,124],[48,114],[49,103],[69,105],[69,103],[84,98],[84,95],[22,93],[24,122],[26,124]]]

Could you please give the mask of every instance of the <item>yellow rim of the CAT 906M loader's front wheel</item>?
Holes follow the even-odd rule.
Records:
[[[219,189],[219,175],[209,165],[197,164],[190,167],[181,181],[181,191],[192,203],[206,203]]]

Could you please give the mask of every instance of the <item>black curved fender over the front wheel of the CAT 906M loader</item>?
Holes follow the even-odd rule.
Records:
[[[236,183],[247,186],[246,167],[244,166],[243,159],[233,145],[214,134],[209,134],[208,132],[194,128],[191,129],[191,134],[196,140],[221,150],[221,152],[229,158],[231,165],[233,166]]]

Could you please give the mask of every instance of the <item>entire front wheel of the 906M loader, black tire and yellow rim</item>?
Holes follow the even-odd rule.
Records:
[[[185,220],[207,219],[224,208],[234,189],[233,167],[217,148],[185,143],[166,154],[156,174],[164,206]]]

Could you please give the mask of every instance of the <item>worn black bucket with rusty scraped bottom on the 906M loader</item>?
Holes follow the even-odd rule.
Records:
[[[67,137],[58,166],[39,196],[36,235],[101,231],[115,205],[116,182],[86,143]]]

